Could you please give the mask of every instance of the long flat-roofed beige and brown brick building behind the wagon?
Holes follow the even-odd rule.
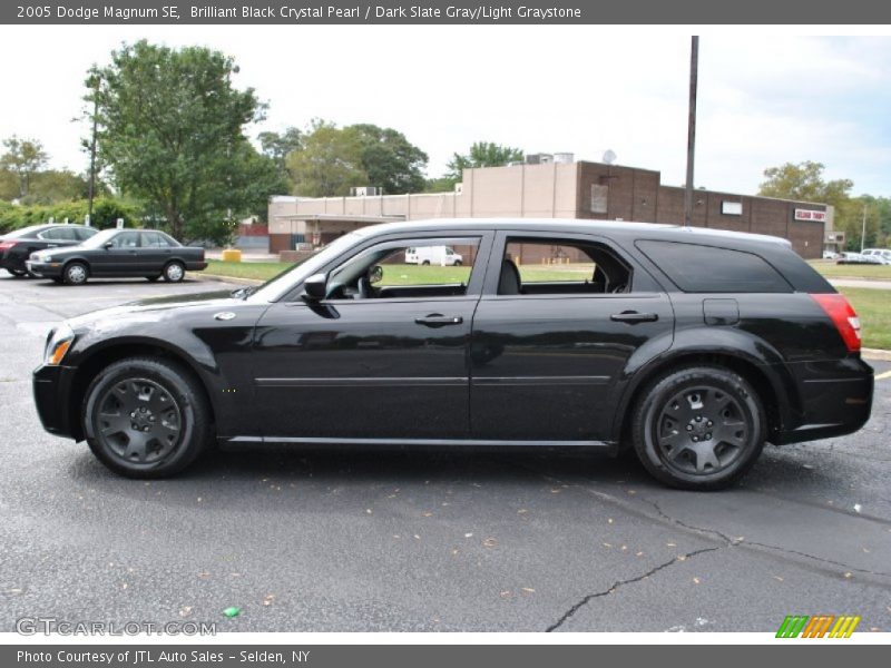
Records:
[[[662,185],[658,171],[566,156],[466,169],[454,193],[381,195],[356,188],[351,197],[273,197],[270,252],[326,244],[358,227],[393,220],[544,217],[683,224],[684,189]],[[832,207],[823,204],[694,193],[694,226],[785,237],[809,258],[820,257],[831,217]]]

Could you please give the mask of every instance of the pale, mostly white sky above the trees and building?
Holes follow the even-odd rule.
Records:
[[[697,187],[751,194],[765,168],[815,160],[855,195],[891,196],[891,37],[779,27],[1,26],[0,138],[37,138],[52,167],[86,170],[85,73],[145,38],[232,56],[235,85],[270,106],[251,137],[371,122],[422,148],[431,177],[486,140],[594,161],[610,149],[681,185],[692,30]]]

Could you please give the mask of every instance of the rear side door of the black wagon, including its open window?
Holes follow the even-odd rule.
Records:
[[[491,258],[473,317],[472,438],[608,440],[629,360],[670,346],[668,296],[588,235],[503,232]]]

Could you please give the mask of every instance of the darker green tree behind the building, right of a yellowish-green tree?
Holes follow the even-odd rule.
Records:
[[[368,185],[379,186],[388,195],[419,193],[424,187],[427,154],[393,128],[360,124],[344,128],[361,145],[361,164]]]

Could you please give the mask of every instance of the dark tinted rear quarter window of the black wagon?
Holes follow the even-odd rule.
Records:
[[[681,242],[640,240],[635,245],[684,292],[793,292],[780,272],[753,253]]]

